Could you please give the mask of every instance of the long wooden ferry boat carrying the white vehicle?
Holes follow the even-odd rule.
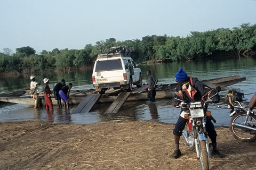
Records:
[[[224,78],[218,78],[218,79],[210,79],[210,80],[203,80],[202,82],[206,84],[207,86],[210,86],[211,88],[215,88],[217,86],[220,86],[221,88],[230,86],[231,84],[235,84],[238,82],[242,82],[246,80],[245,77],[239,77],[238,75],[233,75],[230,77],[224,77]],[[156,88],[156,99],[167,99],[171,98],[171,92],[175,90],[177,87],[177,83],[171,83],[171,84],[159,84]],[[129,98],[127,98],[126,101],[135,101],[135,100],[147,100],[147,85],[143,85],[140,88],[135,88],[132,92]],[[75,90],[71,91],[69,96],[69,104],[70,105],[77,105],[79,104],[87,95],[93,94],[93,89],[88,90]],[[117,95],[121,92],[120,89],[114,90],[110,89],[106,91],[105,95],[102,95],[98,103],[108,103],[112,102],[116,99]],[[57,100],[54,99],[54,96],[52,97],[53,105],[57,105]],[[43,95],[39,95],[39,102],[41,105],[45,104]],[[17,104],[25,104],[25,105],[31,105],[34,106],[34,100],[29,96],[20,96],[20,97],[1,97],[0,101],[5,101],[9,103],[17,103]]]

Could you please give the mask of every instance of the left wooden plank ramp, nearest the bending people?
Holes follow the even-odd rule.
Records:
[[[74,109],[74,111],[71,114],[75,113],[81,113],[81,112],[90,112],[92,107],[95,105],[95,103],[100,98],[100,94],[94,94],[94,95],[87,95],[81,103],[77,105],[77,107]]]

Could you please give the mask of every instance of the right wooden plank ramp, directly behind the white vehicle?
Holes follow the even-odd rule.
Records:
[[[105,114],[108,113],[117,113],[119,109],[123,106],[126,99],[130,96],[131,92],[121,92],[113,103],[108,107]]]

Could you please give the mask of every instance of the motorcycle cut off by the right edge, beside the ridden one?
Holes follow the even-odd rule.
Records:
[[[228,104],[231,120],[229,130],[233,137],[241,142],[256,140],[256,111],[250,111],[249,102],[234,101]]]

